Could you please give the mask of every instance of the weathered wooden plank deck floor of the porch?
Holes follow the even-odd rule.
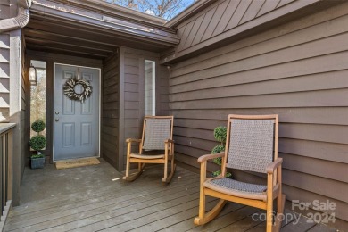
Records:
[[[132,183],[107,162],[70,170],[25,170],[21,206],[14,207],[5,231],[265,231],[252,207],[228,203],[211,223],[196,227],[199,175],[178,167],[170,185],[162,168],[150,167]],[[211,208],[215,199],[208,199]],[[291,213],[290,211],[287,211]],[[281,231],[335,231],[323,225],[284,223]]]

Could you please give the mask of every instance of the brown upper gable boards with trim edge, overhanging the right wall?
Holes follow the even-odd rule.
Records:
[[[296,21],[312,12],[319,12],[342,2],[217,0],[210,3],[202,11],[187,12],[186,17],[179,17],[180,20],[173,22],[173,25],[178,25],[180,42],[175,51],[168,50],[162,54],[162,64],[182,62],[246,37],[259,37],[262,31]],[[285,31],[280,32],[282,34]]]

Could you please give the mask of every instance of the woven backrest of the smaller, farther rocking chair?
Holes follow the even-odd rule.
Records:
[[[164,141],[173,137],[173,116],[145,116],[142,146],[145,150],[164,150]]]

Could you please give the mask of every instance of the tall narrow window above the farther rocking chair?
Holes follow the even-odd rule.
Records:
[[[156,114],[155,62],[145,60],[145,115]]]

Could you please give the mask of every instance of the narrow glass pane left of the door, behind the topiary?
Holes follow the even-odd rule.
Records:
[[[37,85],[30,86],[30,137],[37,135],[31,129],[35,120],[44,120],[46,123],[46,62],[30,61],[37,70]],[[46,136],[46,129],[40,132]]]

